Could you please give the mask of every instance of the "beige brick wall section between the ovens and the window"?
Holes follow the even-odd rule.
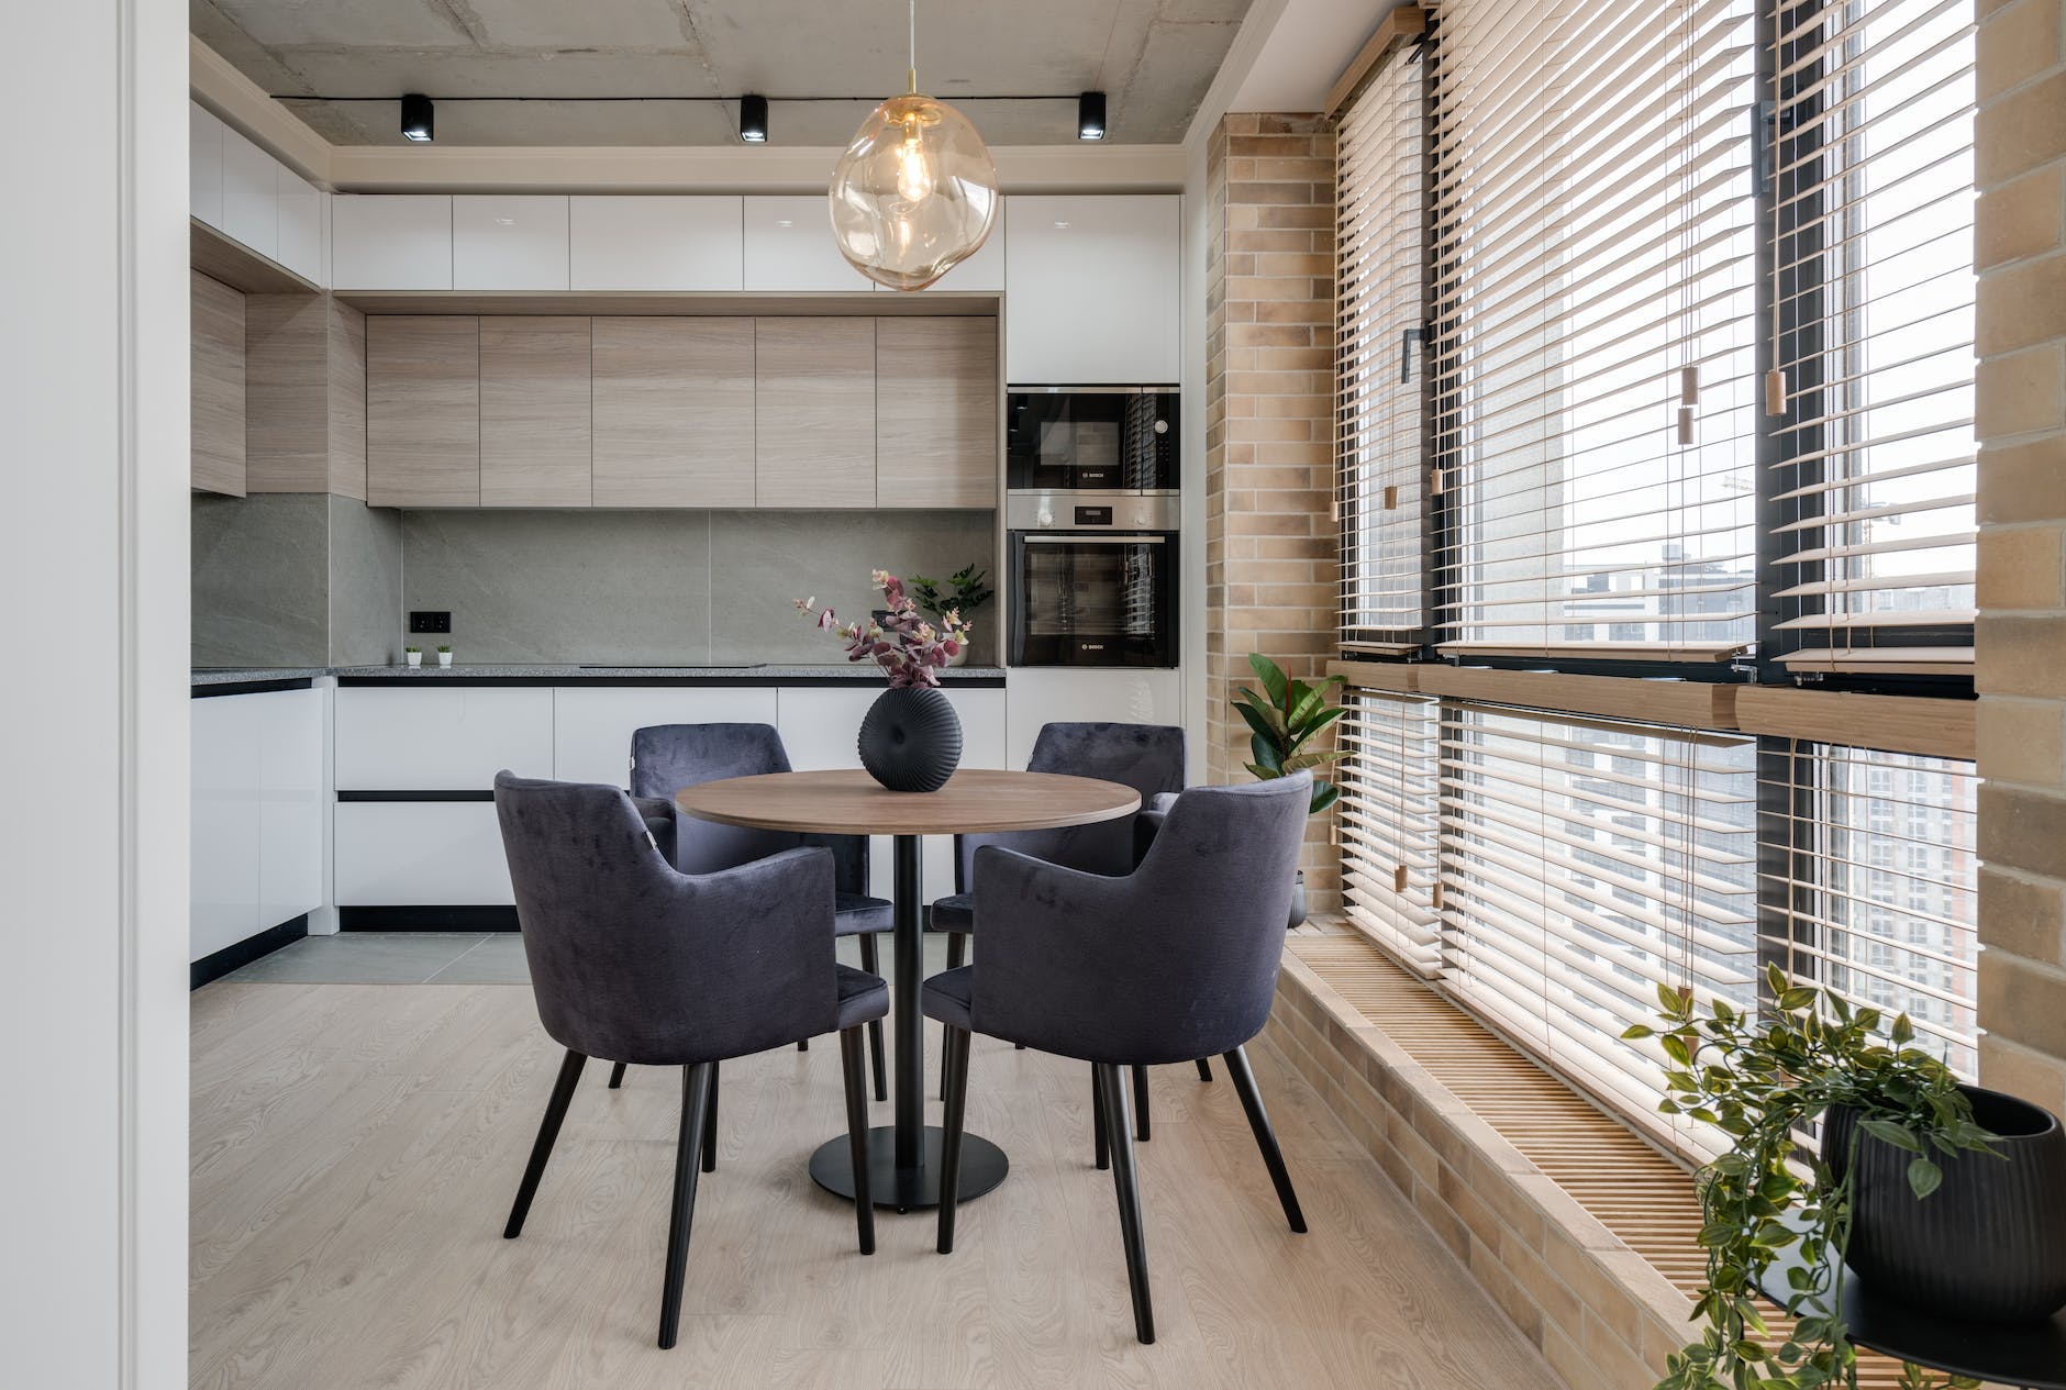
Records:
[[[1207,775],[1246,781],[1227,700],[1248,653],[1314,680],[1335,651],[1335,136],[1227,116],[1207,151]],[[1308,826],[1314,909],[1341,901],[1333,816]]]

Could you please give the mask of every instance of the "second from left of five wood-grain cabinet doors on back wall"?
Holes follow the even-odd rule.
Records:
[[[589,506],[589,320],[479,322],[481,506]]]

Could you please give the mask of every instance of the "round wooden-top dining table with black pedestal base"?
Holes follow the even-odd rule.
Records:
[[[940,1128],[926,1124],[924,1012],[919,1010],[924,950],[921,834],[988,834],[1087,826],[1140,810],[1140,795],[1118,783],[1054,772],[963,768],[928,793],[890,791],[859,768],[841,772],[769,772],[684,787],[682,814],[756,830],[816,834],[888,834],[897,841],[893,940],[895,967],[895,1101],[897,1124],[868,1132],[870,1181],[878,1206],[901,1212],[940,1202]],[[967,1134],[961,1150],[961,1200],[1004,1181],[1004,1150]],[[820,1188],[853,1196],[847,1138],[826,1140],[810,1159]]]

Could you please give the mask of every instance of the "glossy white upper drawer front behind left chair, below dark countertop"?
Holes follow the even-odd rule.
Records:
[[[488,791],[502,768],[552,777],[550,688],[337,692],[339,791]]]

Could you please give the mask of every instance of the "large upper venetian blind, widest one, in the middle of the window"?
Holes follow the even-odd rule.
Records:
[[[1465,0],[1434,39],[1454,653],[1754,636],[1756,0]]]

